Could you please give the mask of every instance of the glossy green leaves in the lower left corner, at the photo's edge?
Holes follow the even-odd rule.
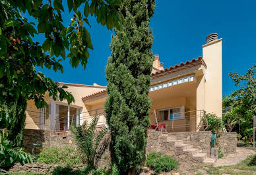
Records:
[[[32,163],[32,156],[25,153],[21,147],[13,147],[11,141],[7,138],[9,132],[5,126],[13,126],[9,113],[2,111],[0,107],[0,167],[11,166],[15,161],[20,164]]]

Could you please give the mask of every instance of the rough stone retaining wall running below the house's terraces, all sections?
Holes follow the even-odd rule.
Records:
[[[177,139],[189,141],[189,144],[193,145],[194,148],[198,148],[202,150],[203,153],[210,155],[210,131],[164,133],[148,130],[148,145],[146,149],[154,151],[162,149],[160,148],[160,144],[162,144],[160,136],[162,136],[162,134],[168,134],[168,136],[175,136]],[[23,141],[25,150],[32,153],[32,144],[36,143],[36,141],[40,143],[40,147],[63,147],[65,145],[76,147],[70,132],[26,129]],[[236,153],[236,132],[223,133],[216,141],[218,146],[222,147],[222,153]]]

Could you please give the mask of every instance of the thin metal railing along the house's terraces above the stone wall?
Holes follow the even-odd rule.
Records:
[[[26,128],[41,129],[41,130],[57,130],[67,131],[74,123],[82,125],[84,120],[90,123],[92,116],[98,116],[98,126],[106,125],[104,108],[94,109],[91,111],[80,112],[79,114],[63,115],[62,111],[58,111],[55,116],[50,116],[47,110],[45,111],[26,111]],[[170,113],[169,113],[170,115]],[[178,116],[178,117],[177,117]],[[202,118],[205,117],[205,111],[185,111],[176,112],[168,116],[168,120],[161,119],[161,116],[156,117],[157,120],[152,120],[151,124],[166,125],[166,132],[189,132],[204,128]]]

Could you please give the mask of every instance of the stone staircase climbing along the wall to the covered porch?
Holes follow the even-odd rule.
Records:
[[[168,134],[162,134],[160,139],[164,140],[165,144],[162,145],[164,149],[159,149],[158,151],[172,156],[179,161],[205,164],[213,164],[216,161],[207,157],[207,153],[202,153],[202,150],[193,148],[193,145],[189,143],[190,141],[183,140],[182,138],[177,139],[176,136],[170,136]],[[166,151],[166,149],[170,151]]]

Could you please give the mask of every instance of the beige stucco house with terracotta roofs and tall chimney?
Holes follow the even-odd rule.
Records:
[[[36,111],[28,101],[27,123],[32,128],[68,130],[71,122],[82,124],[91,116],[100,116],[99,125],[106,124],[104,103],[108,98],[106,87],[63,84],[75,97],[75,103],[53,101],[48,98],[48,109]],[[154,55],[151,85],[148,97],[152,100],[150,122],[166,124],[168,132],[199,130],[206,113],[222,118],[222,39],[218,34],[207,36],[203,57],[164,68],[158,55]],[[30,109],[31,108],[31,109]],[[36,111],[36,118],[30,111]]]

